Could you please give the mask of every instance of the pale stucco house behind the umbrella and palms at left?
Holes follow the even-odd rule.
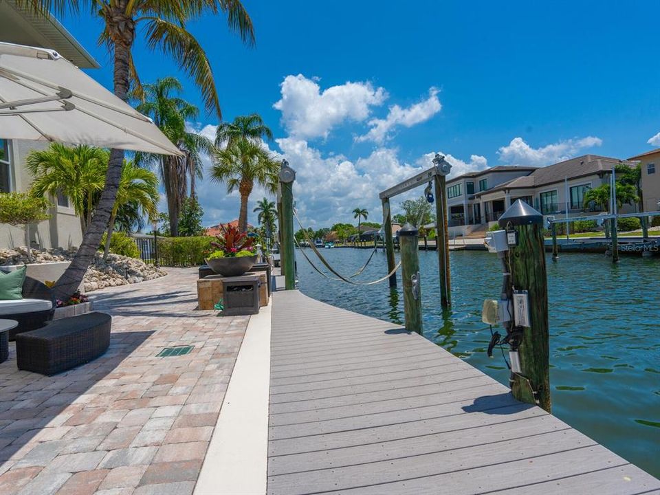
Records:
[[[98,68],[98,63],[76,39],[55,19],[45,19],[13,0],[0,1],[0,41],[56,50],[82,68]],[[0,192],[23,192],[30,188],[32,176],[25,169],[30,151],[44,149],[46,142],[6,140],[0,129]],[[50,219],[30,228],[32,248],[70,248],[83,239],[80,219],[69,199],[63,195],[49,198],[53,203]],[[0,225],[0,248],[25,244],[23,230]]]

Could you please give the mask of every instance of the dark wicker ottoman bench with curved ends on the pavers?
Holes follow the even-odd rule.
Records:
[[[50,376],[94,360],[110,345],[111,321],[110,315],[94,312],[19,333],[17,365],[21,370]]]

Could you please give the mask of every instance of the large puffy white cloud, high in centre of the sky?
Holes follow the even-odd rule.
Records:
[[[371,107],[387,98],[382,87],[374,88],[369,82],[348,82],[321,91],[317,80],[303,74],[286,76],[281,93],[273,107],[282,112],[289,135],[298,138],[327,137],[346,120],[362,122],[369,118]]]

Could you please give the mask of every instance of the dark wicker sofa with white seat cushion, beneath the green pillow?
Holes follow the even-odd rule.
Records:
[[[43,327],[52,320],[54,312],[52,290],[30,277],[25,277],[23,283],[23,299],[0,300],[0,318],[19,322],[9,331],[9,340],[14,340],[17,333]]]

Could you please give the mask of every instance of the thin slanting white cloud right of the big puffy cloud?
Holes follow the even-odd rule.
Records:
[[[442,109],[438,98],[439,89],[432,87],[428,90],[428,98],[421,102],[401,108],[395,104],[390,107],[384,119],[374,118],[369,121],[369,132],[355,138],[356,141],[373,141],[382,144],[390,137],[396,126],[412,127],[415,124],[426,122]]]

